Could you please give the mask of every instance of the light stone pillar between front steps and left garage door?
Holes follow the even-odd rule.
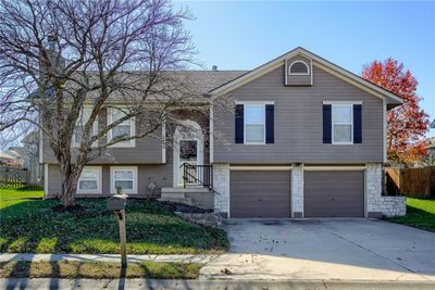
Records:
[[[214,212],[227,217],[229,212],[229,164],[213,164]]]

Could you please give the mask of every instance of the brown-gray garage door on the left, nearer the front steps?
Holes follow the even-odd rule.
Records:
[[[289,217],[290,172],[231,172],[232,217]]]

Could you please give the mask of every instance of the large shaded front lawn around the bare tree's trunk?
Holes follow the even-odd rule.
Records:
[[[0,252],[119,253],[119,225],[105,199],[79,199],[80,213],[53,213],[55,200],[34,199],[40,191],[0,189]],[[20,198],[21,197],[21,198]],[[130,254],[222,253],[225,231],[187,223],[161,203],[128,200],[127,251]]]

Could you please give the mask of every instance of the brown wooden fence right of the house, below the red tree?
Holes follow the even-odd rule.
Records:
[[[388,194],[435,197],[435,166],[423,168],[386,168]]]

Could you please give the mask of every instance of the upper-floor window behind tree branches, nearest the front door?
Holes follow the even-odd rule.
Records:
[[[113,122],[119,121],[127,114],[126,109],[111,109],[109,110],[108,124],[112,124]],[[113,127],[109,130],[109,141],[123,138],[130,137],[135,135],[135,119],[129,118],[127,121],[122,122],[121,124]],[[112,147],[135,147],[135,140],[125,140],[113,144]]]

